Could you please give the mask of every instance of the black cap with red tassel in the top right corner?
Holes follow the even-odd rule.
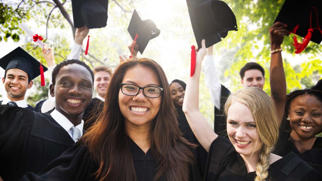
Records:
[[[296,52],[302,52],[309,41],[320,44],[322,41],[322,1],[321,0],[285,0],[275,22],[287,24],[289,32],[303,37],[299,43],[294,36],[292,43]],[[274,22],[274,23],[275,23]]]

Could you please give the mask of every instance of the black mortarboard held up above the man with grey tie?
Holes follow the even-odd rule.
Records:
[[[107,22],[109,0],[71,0],[74,27],[103,28]]]

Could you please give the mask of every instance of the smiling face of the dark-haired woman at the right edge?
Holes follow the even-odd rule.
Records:
[[[291,102],[288,116],[292,137],[314,138],[322,129],[322,102],[312,95],[300,95]]]

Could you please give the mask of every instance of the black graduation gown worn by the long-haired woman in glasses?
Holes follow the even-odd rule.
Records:
[[[137,180],[153,181],[153,177],[157,173],[157,164],[151,150],[149,149],[147,154],[145,154],[130,138],[129,142]],[[29,172],[26,173],[21,180],[92,181],[96,180],[93,173],[95,173],[98,168],[99,165],[89,154],[87,148],[81,144],[76,144],[37,175]],[[191,181],[199,181],[195,179],[193,169],[190,171],[190,178]],[[165,178],[161,177],[158,181],[165,181]]]

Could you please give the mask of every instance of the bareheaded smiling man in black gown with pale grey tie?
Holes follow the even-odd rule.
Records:
[[[93,94],[94,75],[79,60],[58,64],[52,72],[51,96],[55,109],[38,113],[17,106],[0,106],[0,176],[19,180],[39,172],[83,134],[84,110]]]

